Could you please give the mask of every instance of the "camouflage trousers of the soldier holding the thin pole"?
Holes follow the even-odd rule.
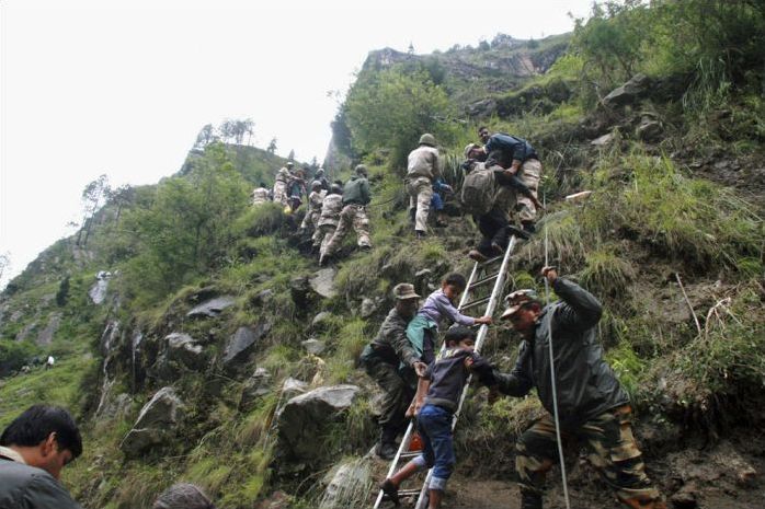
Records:
[[[625,507],[666,509],[646,474],[642,453],[632,437],[631,413],[629,406],[608,410],[573,430],[561,430],[562,438],[575,438],[586,446],[587,459]],[[552,416],[547,414],[534,423],[521,436],[516,449],[521,491],[541,495],[547,471],[558,461]]]

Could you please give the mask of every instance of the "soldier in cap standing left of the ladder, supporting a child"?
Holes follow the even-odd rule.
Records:
[[[385,391],[379,418],[380,441],[375,453],[390,460],[396,455],[396,437],[407,426],[406,412],[416,385],[416,375],[424,375],[427,366],[407,338],[407,325],[414,317],[420,296],[414,286],[402,282],[393,288],[396,308],[380,325],[377,337],[364,348],[361,362],[367,374]],[[416,374],[416,375],[415,375]]]

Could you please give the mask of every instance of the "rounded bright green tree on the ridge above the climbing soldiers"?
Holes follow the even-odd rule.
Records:
[[[449,143],[454,137],[455,127],[448,120],[453,106],[426,71],[393,67],[361,74],[344,107],[354,148],[373,152],[386,147],[395,166],[404,164],[423,132],[433,134],[439,143]]]

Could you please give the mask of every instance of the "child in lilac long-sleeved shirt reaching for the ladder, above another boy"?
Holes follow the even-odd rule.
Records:
[[[454,301],[459,298],[459,294],[465,291],[466,287],[465,276],[456,273],[449,274],[441,282],[441,289],[427,296],[416,316],[409,322],[407,337],[416,352],[420,354],[422,362],[430,366],[435,360],[435,340],[438,336],[441,322],[444,320],[468,327],[477,324],[491,324],[491,316],[473,319],[460,313],[455,308]],[[407,412],[408,416],[416,414],[418,408],[422,406],[422,400],[425,397],[426,392],[427,381],[420,378],[418,380],[416,395]]]

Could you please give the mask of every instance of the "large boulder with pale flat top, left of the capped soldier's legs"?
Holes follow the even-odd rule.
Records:
[[[279,452],[292,460],[315,463],[321,460],[324,425],[347,409],[359,389],[333,385],[315,389],[287,402],[278,414]]]

